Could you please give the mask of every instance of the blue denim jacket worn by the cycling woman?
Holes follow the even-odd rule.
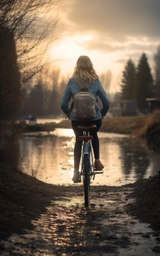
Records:
[[[109,109],[109,99],[107,98],[107,93],[103,89],[99,79],[96,79],[95,81],[93,81],[89,86],[88,90],[89,92],[93,93],[93,95],[95,95],[95,99],[97,102],[98,102],[98,96],[99,96],[102,103],[101,109],[97,109],[96,117],[93,120],[102,119]],[[73,117],[73,111],[71,108],[71,99],[73,99],[75,94],[79,93],[80,91],[81,89],[79,85],[77,84],[75,79],[71,77],[65,89],[65,93],[61,99],[61,109],[67,115],[67,117],[69,117],[69,119],[75,120],[75,121],[77,119]]]

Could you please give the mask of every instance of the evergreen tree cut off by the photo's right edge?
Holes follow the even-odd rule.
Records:
[[[160,97],[160,45],[154,55],[154,62],[155,90],[153,92],[153,95],[155,97]]]

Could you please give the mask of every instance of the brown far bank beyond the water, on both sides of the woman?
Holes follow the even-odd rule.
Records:
[[[53,131],[56,128],[71,128],[71,121],[64,119],[59,123],[37,123],[22,125],[23,131]],[[159,148],[160,145],[160,114],[156,111],[150,115],[133,117],[113,117],[103,119],[100,131],[106,133],[121,133],[134,137],[143,137],[151,147]]]

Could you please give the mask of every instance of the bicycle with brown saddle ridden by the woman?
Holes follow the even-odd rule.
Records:
[[[89,135],[89,130],[97,128],[96,125],[79,125],[79,129],[83,130],[83,136],[79,136],[82,143],[81,153],[81,172],[80,177],[83,177],[83,187],[85,196],[85,206],[89,205],[89,187],[91,179],[95,179],[96,174],[103,173],[103,170],[95,170],[93,165],[93,148],[91,145],[92,135]]]

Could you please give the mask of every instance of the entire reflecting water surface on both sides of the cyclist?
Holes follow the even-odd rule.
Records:
[[[93,185],[125,185],[158,173],[159,153],[149,151],[144,141],[111,133],[99,133],[99,139],[105,171]],[[71,184],[74,143],[71,129],[21,137],[23,171],[47,183]]]

